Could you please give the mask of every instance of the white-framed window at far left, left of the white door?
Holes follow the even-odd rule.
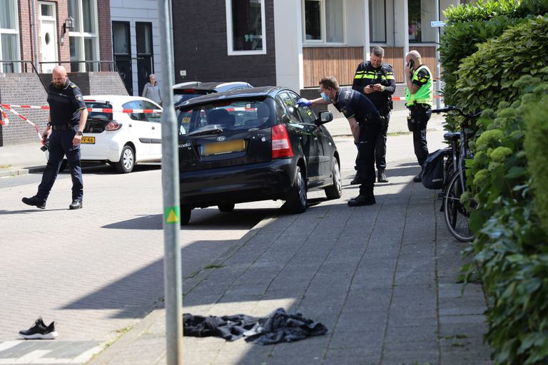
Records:
[[[16,0],[0,1],[0,60],[19,60]],[[0,72],[20,72],[21,63],[0,62]]]

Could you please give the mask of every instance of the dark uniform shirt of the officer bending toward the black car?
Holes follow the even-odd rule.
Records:
[[[354,117],[360,125],[367,121],[380,123],[379,112],[372,101],[351,88],[340,88],[334,104],[347,119]]]

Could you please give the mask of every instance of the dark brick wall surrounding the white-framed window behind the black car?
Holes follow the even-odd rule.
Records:
[[[225,0],[186,1],[185,6],[173,1],[176,83],[198,80],[275,85],[273,0],[266,0],[265,6],[266,54],[228,56]],[[179,76],[179,70],[186,70],[186,77]]]

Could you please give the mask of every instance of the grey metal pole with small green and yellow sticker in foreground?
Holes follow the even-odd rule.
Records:
[[[168,365],[183,364],[183,284],[181,280],[181,248],[179,231],[178,133],[173,108],[172,34],[170,1],[158,0],[160,51],[162,68],[162,187],[163,187],[163,277],[166,296],[166,361]]]

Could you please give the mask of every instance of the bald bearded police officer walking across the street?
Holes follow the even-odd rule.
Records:
[[[54,68],[53,81],[48,87],[48,103],[49,123],[42,138],[49,139],[49,160],[38,192],[33,197],[24,197],[23,202],[41,209],[46,208],[49,192],[66,156],[72,178],[72,202],[68,208],[80,209],[83,198],[80,141],[88,110],[80,89],[68,80],[63,66]]]

